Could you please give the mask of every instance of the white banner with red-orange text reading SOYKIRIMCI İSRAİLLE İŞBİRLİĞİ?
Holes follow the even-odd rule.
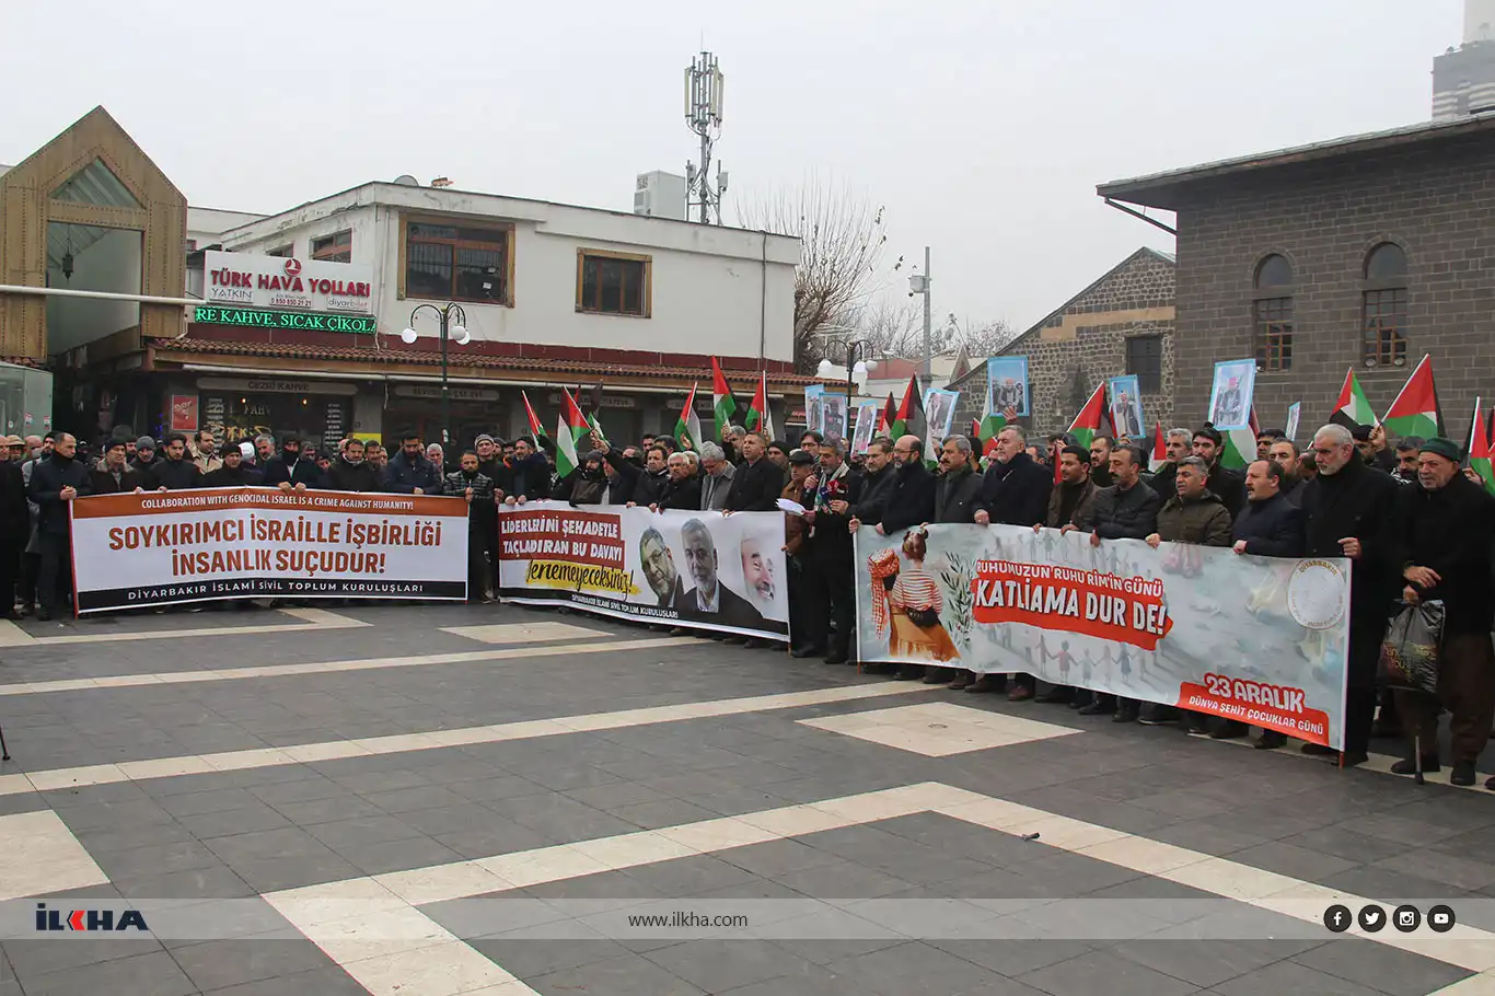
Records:
[[[468,505],[218,488],[72,502],[79,615],[220,598],[466,598]]]

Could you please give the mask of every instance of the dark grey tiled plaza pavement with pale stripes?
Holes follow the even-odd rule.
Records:
[[[0,778],[152,758],[172,758],[161,772],[194,770],[147,776],[151,769],[135,769],[139,776],[127,781],[0,794],[0,896],[40,888],[57,900],[257,903],[263,894],[280,902],[308,887],[408,885],[426,881],[417,869],[434,876],[447,869],[441,875],[466,878],[446,902],[413,894],[414,905],[399,900],[386,911],[419,915],[438,932],[435,942],[414,954],[402,951],[410,944],[386,944],[354,957],[347,942],[320,935],[323,947],[306,939],[4,941],[0,996],[1495,993],[1495,980],[1476,974],[1495,969],[1495,944],[1482,933],[1495,930],[1495,917],[1473,906],[1495,899],[1495,797],[1483,791],[1419,790],[1381,773],[1341,773],[1174,728],[1118,727],[1063,707],[898,686],[846,667],[667,640],[577,615],[456,606],[330,612],[342,622],[324,619],[327,625],[309,630],[257,631],[302,622],[281,613],[200,612],[27,622],[18,627],[22,639],[0,640],[0,725],[16,755]],[[181,630],[197,633],[24,639]],[[644,640],[658,645],[638,643]],[[632,646],[614,649],[625,642]],[[511,654],[516,648],[544,655]],[[483,651],[492,657],[477,657]],[[443,660],[7,694],[40,682],[432,655]],[[848,697],[864,685],[873,694]],[[724,700],[761,706],[724,707]],[[646,712],[620,721],[626,710]],[[972,722],[966,710],[982,715]],[[537,722],[552,719],[570,725]],[[928,737],[919,736],[921,724]],[[451,746],[414,736],[477,727],[534,736]],[[405,734],[411,749],[395,743],[357,757],[233,770],[185,763]],[[919,802],[879,815],[882,803],[866,802],[939,802],[939,793],[1002,802],[970,803],[976,809],[966,815],[984,812],[987,824],[949,815],[958,806],[940,812]],[[1021,826],[993,829],[1011,812],[1024,814]],[[773,831],[756,842],[733,837],[759,824]],[[1030,827],[1044,829],[1038,840],[1015,836]],[[694,843],[683,852],[650,849],[677,837]],[[580,858],[556,863],[556,854],[573,851],[556,845],[580,842],[595,842],[576,852],[601,855],[597,870],[582,873],[589,866]],[[471,891],[483,881],[471,867],[513,870],[534,855],[549,857],[528,884]],[[57,882],[106,882],[39,887],[34,872],[18,870],[36,864],[55,869]],[[1305,896],[1441,899],[1476,929],[1476,939],[1426,948],[1441,960],[1387,944],[1395,938],[1386,935],[1305,932],[1301,920],[1292,924],[1296,939],[1265,939],[1290,933],[1278,930],[1283,924],[1271,920],[1278,914],[1260,899],[1281,882]],[[698,941],[614,941],[585,930],[534,939],[522,929],[468,936],[459,899],[1184,903],[1218,894],[1239,896],[1242,909],[1256,903],[1251,909],[1263,917],[1256,939],[1196,941],[1187,932],[1174,939],[1046,939],[1041,903],[1014,921],[1038,936],[1005,941],[816,939],[813,929],[803,938]],[[378,909],[371,902],[368,923]],[[265,911],[268,923],[284,926],[269,905]]]

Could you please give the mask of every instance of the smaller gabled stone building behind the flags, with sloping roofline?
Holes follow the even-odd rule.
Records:
[[[1147,431],[1174,419],[1174,257],[1139,248],[1057,311],[1012,339],[1002,356],[1029,362],[1030,414],[1038,432],[1061,432],[1102,380],[1136,374]],[[985,414],[987,365],[951,381],[957,426]]]

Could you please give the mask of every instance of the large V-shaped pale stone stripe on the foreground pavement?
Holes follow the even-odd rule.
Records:
[[[466,981],[478,968],[472,957],[463,953],[481,956],[422,912],[419,909],[422,905],[528,888],[921,812],[937,812],[1014,836],[1041,833],[1038,839],[1041,848],[1057,848],[1144,875],[1166,878],[1308,923],[1320,923],[1325,908],[1335,902],[1351,909],[1374,902],[1229,858],[939,782],[306,885],[271,893],[263,899],[375,996],[396,996],[396,993],[450,996],[486,984]],[[1495,971],[1495,935],[1473,927],[1456,926],[1446,935],[1426,930],[1417,935],[1389,935],[1365,933],[1356,926],[1344,936],[1411,951],[1473,972]],[[492,962],[487,965],[493,972],[490,978],[499,984],[514,986],[507,981],[513,980],[513,975]],[[525,987],[499,992],[508,996],[532,990]],[[1450,996],[1486,993],[1476,987],[1464,990],[1453,987],[1449,992]]]

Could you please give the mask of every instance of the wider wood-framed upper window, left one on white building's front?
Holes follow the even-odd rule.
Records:
[[[513,304],[513,229],[411,221],[405,229],[405,296]]]

